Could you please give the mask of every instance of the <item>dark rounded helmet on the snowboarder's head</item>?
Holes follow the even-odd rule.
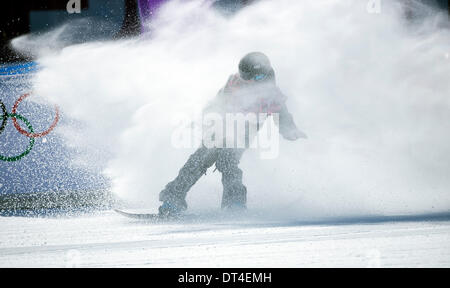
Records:
[[[244,80],[265,81],[274,78],[269,58],[261,52],[251,52],[239,62],[239,75]]]

